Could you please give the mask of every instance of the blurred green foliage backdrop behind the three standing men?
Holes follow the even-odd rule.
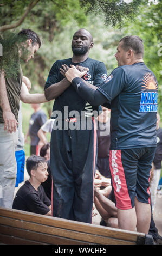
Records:
[[[72,36],[77,29],[85,27],[94,38],[89,56],[103,61],[108,73],[117,66],[114,54],[122,36],[139,35],[144,41],[145,63],[154,72],[160,88],[162,70],[158,52],[162,53],[162,50],[158,46],[162,43],[161,9],[161,0],[156,4],[147,0],[1,0],[0,34],[3,44],[5,41],[3,50],[7,52],[5,69],[8,74],[16,73],[12,58],[14,34],[22,28],[33,29],[40,35],[42,46],[34,60],[22,64],[22,70],[33,84],[31,92],[40,92],[55,60],[72,57]],[[9,29],[8,25],[15,24],[18,24],[15,29],[12,26]],[[8,26],[8,30],[4,30],[4,26]],[[159,111],[162,109],[161,92],[159,89]]]

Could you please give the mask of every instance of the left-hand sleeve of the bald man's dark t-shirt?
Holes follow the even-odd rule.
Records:
[[[44,89],[48,88],[51,86],[51,84],[57,83],[57,76],[60,74],[59,66],[57,65],[57,61],[53,64],[49,71],[49,75],[46,81],[46,84],[44,86]]]

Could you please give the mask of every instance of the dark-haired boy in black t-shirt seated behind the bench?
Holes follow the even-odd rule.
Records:
[[[27,159],[26,168],[30,178],[17,191],[12,208],[52,216],[51,201],[41,185],[48,177],[46,160],[31,155]]]

